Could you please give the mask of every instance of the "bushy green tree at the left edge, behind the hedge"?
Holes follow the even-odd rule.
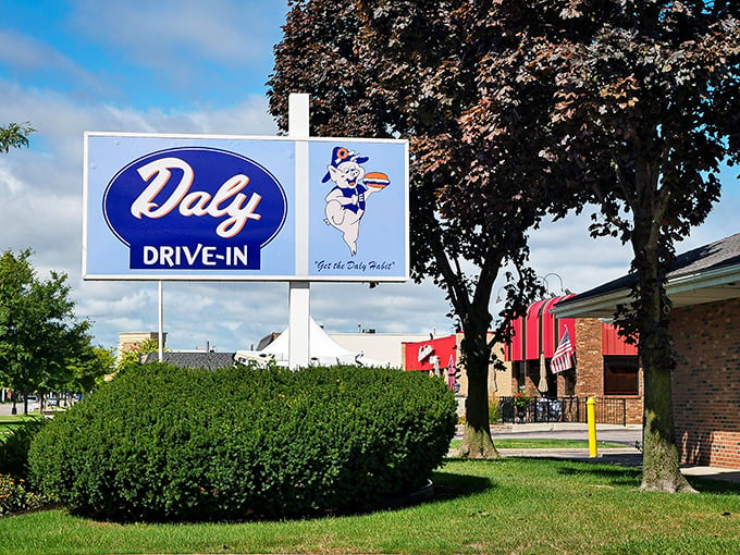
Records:
[[[65,390],[91,355],[90,323],[75,317],[66,275],[40,280],[30,255],[0,255],[0,377],[23,394]]]

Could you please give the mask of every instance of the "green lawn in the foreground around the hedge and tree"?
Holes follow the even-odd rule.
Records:
[[[640,470],[599,462],[448,460],[432,502],[399,510],[237,525],[116,525],[57,508],[0,519],[0,554],[736,554],[740,485],[639,491]]]

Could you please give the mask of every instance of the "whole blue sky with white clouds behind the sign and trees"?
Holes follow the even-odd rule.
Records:
[[[96,343],[156,331],[157,285],[82,280],[83,133],[274,135],[264,83],[286,11],[284,0],[0,0],[0,125],[38,130],[30,148],[0,155],[0,249],[30,247],[40,274],[66,272]],[[723,173],[721,202],[679,251],[738,231],[736,174]],[[589,238],[588,224],[587,213],[532,233],[540,275],[579,292],[627,271],[629,248]],[[287,324],[282,283],[166,283],[164,299],[171,348],[249,348]],[[311,287],[330,332],[448,333],[447,311],[431,283]]]

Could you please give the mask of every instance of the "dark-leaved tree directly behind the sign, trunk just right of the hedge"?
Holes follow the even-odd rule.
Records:
[[[308,92],[313,135],[410,140],[412,276],[444,288],[465,331],[461,454],[490,457],[497,456],[489,428],[491,347],[508,337],[511,317],[539,291],[527,231],[546,203],[522,192],[528,169],[513,156],[515,140],[493,156],[479,148],[489,128],[464,128],[466,112],[483,101],[477,70],[484,52],[461,17],[467,3],[293,0],[269,86],[282,128],[288,94]],[[527,136],[536,141],[534,130]],[[503,324],[489,337],[491,294],[505,268]]]

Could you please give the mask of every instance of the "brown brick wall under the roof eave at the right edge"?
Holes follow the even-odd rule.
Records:
[[[674,310],[681,461],[740,468],[740,299]]]

